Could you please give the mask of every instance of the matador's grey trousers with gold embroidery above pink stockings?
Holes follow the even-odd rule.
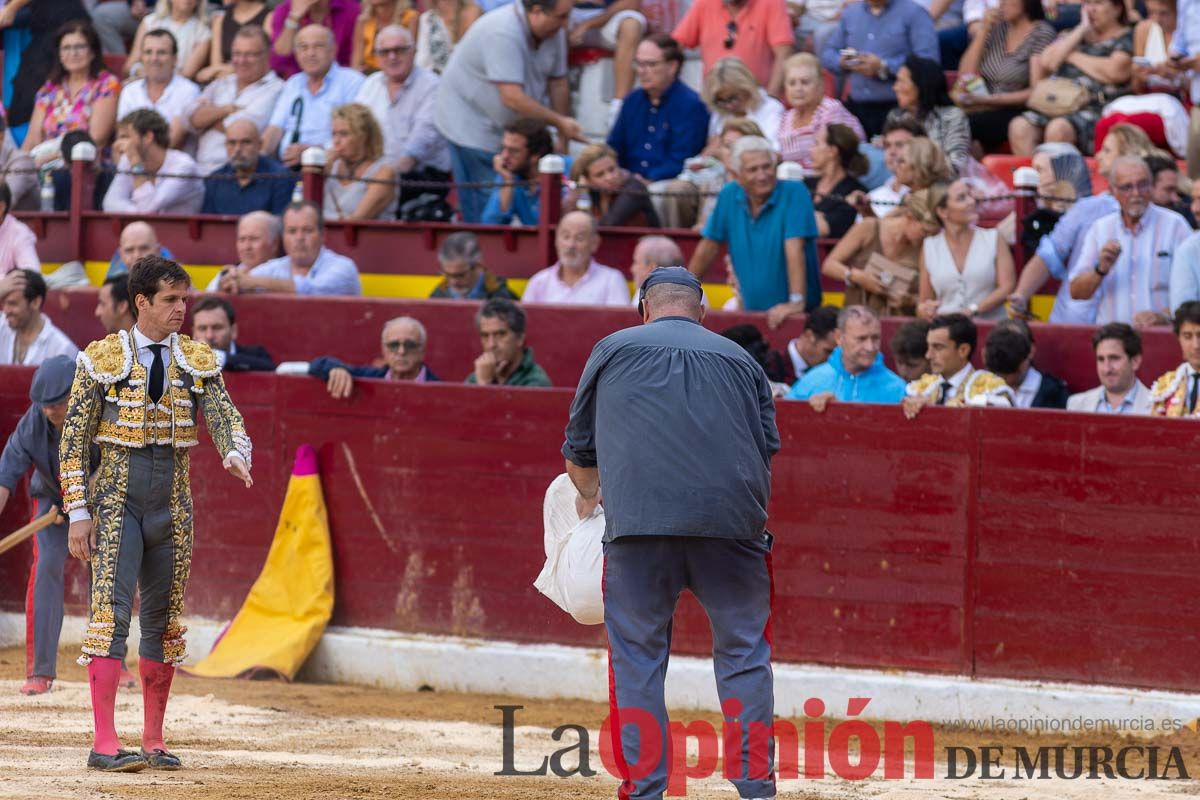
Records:
[[[162,634],[167,630],[170,583],[175,571],[175,543],[170,524],[173,447],[152,445],[130,450],[130,480],[113,581],[113,646],[109,657],[125,658],[125,639],[133,615],[133,593],[140,588],[138,655],[163,661]]]

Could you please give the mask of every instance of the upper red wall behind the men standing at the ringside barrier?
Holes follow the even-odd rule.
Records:
[[[52,293],[48,309],[55,325],[76,343],[85,344],[103,331],[94,317],[95,289],[71,289]],[[289,297],[286,295],[244,295],[233,299],[238,311],[239,338],[246,344],[262,344],[276,361],[308,361],[319,355],[336,355],[349,363],[370,363],[379,357],[379,332],[383,323],[400,315],[420,319],[428,330],[428,361],[443,380],[462,380],[479,355],[475,335],[475,302],[390,299]],[[528,314],[527,339],[538,362],[556,385],[575,385],[583,371],[592,345],[613,331],[636,325],[636,312],[623,308],[581,306],[524,306]],[[886,343],[906,319],[883,321],[884,359],[892,363]],[[776,331],[767,329],[766,314],[709,312],[704,325],[724,330],[751,323],[767,335],[772,345],[782,351],[787,342],[799,336],[803,319],[792,319]],[[976,361],[983,363],[983,342],[990,324],[979,327]],[[1072,387],[1082,391],[1096,386],[1092,355],[1092,329],[1074,325],[1034,325],[1038,343],[1036,362]],[[564,331],[570,331],[564,336]],[[1168,329],[1142,332],[1145,359],[1141,379],[1150,384],[1158,375],[1180,365],[1180,348]]]

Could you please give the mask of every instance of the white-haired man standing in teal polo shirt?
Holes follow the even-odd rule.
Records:
[[[779,327],[821,305],[812,198],[804,184],[775,178],[779,157],[762,137],[738,139],[731,158],[737,180],[718,196],[688,269],[703,278],[727,246],[743,308]]]

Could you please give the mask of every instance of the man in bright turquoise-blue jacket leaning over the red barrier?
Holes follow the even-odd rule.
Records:
[[[838,314],[838,347],[829,360],[796,381],[788,399],[806,399],[817,413],[840,403],[899,403],[905,380],[883,366],[880,318],[866,306],[846,306]]]

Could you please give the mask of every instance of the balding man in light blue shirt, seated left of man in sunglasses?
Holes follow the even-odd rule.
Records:
[[[295,55],[301,72],[283,84],[271,121],[263,131],[263,152],[278,155],[288,167],[300,163],[308,148],[329,148],[334,109],[354,100],[362,73],[334,62],[334,34],[308,25],[296,34]]]

